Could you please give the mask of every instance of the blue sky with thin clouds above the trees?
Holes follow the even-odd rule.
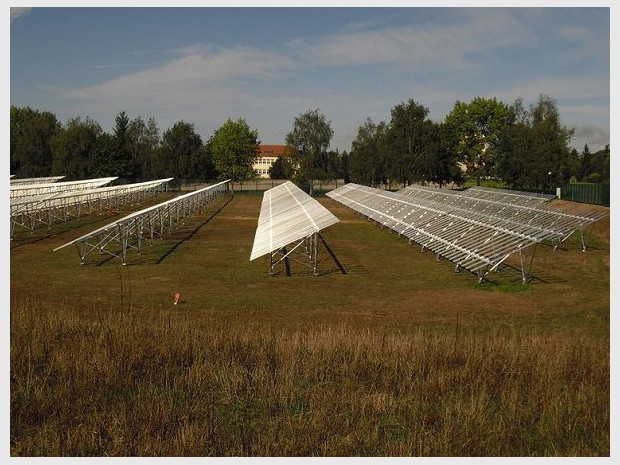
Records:
[[[10,103],[106,131],[120,111],[161,133],[183,120],[204,141],[243,118],[265,144],[318,108],[342,151],[409,99],[441,121],[457,100],[545,94],[594,151],[610,143],[611,2],[593,4],[12,8]]]

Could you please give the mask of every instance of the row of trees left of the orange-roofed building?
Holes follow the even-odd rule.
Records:
[[[160,135],[154,118],[131,120],[124,111],[112,133],[90,118],[62,125],[53,113],[28,107],[11,106],[10,124],[10,169],[18,177],[216,179],[234,173],[231,163],[249,171],[259,145],[242,119],[229,119],[206,143],[191,123],[179,121]],[[239,168],[236,174],[248,173]]]

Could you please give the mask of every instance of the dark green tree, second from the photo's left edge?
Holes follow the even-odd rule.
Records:
[[[73,118],[51,139],[53,151],[52,175],[66,179],[86,179],[93,174],[97,140],[103,134],[96,121]]]

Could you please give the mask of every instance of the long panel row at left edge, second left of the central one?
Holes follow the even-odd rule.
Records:
[[[165,191],[173,178],[120,186],[69,190],[52,194],[11,199],[11,238],[17,226],[33,231],[37,227],[80,218],[93,211],[116,209],[122,204],[139,202]]]

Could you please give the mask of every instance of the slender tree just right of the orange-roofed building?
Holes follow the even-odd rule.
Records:
[[[316,179],[316,164],[327,151],[333,135],[331,122],[318,108],[298,115],[293,121],[292,131],[286,135],[286,144],[291,148],[291,160],[296,170],[295,179],[298,184],[307,183],[310,195]]]

